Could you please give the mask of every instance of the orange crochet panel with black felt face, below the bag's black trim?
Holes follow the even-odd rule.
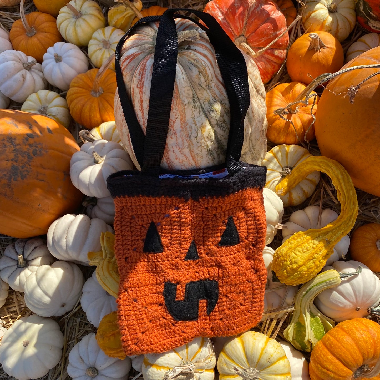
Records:
[[[119,328],[127,355],[168,351],[196,336],[235,335],[260,321],[261,191],[197,200],[120,197],[115,204]]]

